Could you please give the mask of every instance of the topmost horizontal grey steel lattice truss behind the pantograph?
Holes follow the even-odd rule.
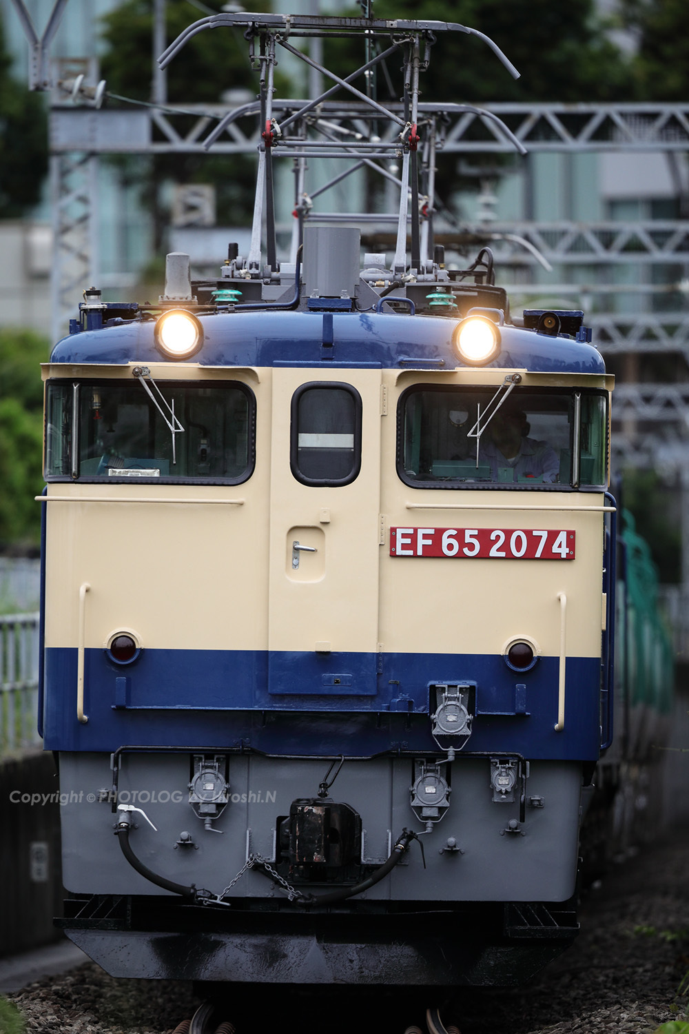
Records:
[[[76,99],[82,103],[88,98]],[[299,111],[304,100],[275,100],[274,110]],[[323,102],[328,117],[342,112],[341,103]],[[399,104],[387,104],[390,111]],[[689,150],[689,103],[644,104],[543,104],[493,103],[483,109],[466,104],[437,105],[419,102],[420,114],[436,114],[441,120],[445,154],[510,153],[497,119],[526,150],[581,153],[583,151],[677,151]],[[91,113],[91,117],[88,115]],[[195,121],[189,125],[189,116]],[[60,107],[52,120],[54,151],[94,150],[166,154],[205,151],[209,126],[223,124],[215,153],[255,154],[260,146],[256,122],[258,105],[230,109],[223,104],[160,104],[136,111]],[[314,116],[315,118],[315,116]]]

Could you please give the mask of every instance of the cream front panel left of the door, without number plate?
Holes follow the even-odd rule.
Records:
[[[94,367],[82,371],[99,375]],[[48,508],[46,646],[77,646],[80,586],[88,583],[86,648],[102,648],[114,632],[128,629],[144,647],[265,649],[271,371],[264,372],[260,385],[232,370],[224,376],[245,381],[260,410],[248,481],[48,486],[40,504]]]

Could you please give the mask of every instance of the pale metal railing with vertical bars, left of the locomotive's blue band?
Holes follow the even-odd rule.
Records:
[[[38,613],[0,616],[0,756],[40,743]]]

